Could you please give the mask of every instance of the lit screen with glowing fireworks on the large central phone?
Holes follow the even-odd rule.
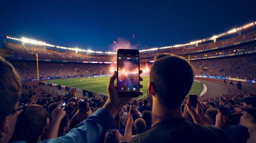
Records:
[[[139,92],[139,55],[119,54],[118,92]]]

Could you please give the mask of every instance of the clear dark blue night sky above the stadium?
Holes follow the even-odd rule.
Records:
[[[255,5],[255,0],[1,0],[0,38],[24,36],[95,51],[111,51],[119,37],[141,41],[139,49],[169,46],[254,21]]]

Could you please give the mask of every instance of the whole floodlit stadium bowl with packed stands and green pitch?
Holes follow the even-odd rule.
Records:
[[[256,86],[252,83],[255,83],[256,80],[255,24],[256,21],[253,21],[189,43],[140,50],[140,67],[143,70],[144,79],[146,79],[143,84],[147,86],[154,55],[172,53],[184,57],[192,64],[195,79],[219,79],[216,82],[220,79],[227,79],[227,81],[233,80],[235,84],[242,81],[246,90],[254,92]],[[125,44],[119,43],[117,46],[122,48]],[[61,85],[63,88],[65,86],[77,88],[80,96],[82,90],[86,90],[87,93],[92,92],[93,95],[106,96],[108,76],[116,70],[117,55],[115,52],[55,46],[39,40],[9,35],[4,38],[3,47],[1,56],[9,59],[20,73],[22,81],[37,81],[39,79],[46,84]],[[38,54],[38,79],[36,54]],[[239,67],[243,67],[243,70],[237,70]],[[96,77],[98,78],[96,79]],[[188,95],[213,97],[215,93],[207,94],[207,90],[207,85],[195,80]],[[225,90],[223,88],[221,93],[236,92],[233,89],[228,92]],[[146,89],[143,89],[143,92],[146,93]],[[145,97],[147,97],[146,94],[139,99]]]

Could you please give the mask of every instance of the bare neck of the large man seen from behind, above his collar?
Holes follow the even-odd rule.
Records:
[[[181,118],[181,117],[182,117],[182,114],[181,114],[180,106],[177,108],[166,108],[161,104],[153,103],[153,108],[152,108],[153,125],[162,121],[168,121],[174,118]]]

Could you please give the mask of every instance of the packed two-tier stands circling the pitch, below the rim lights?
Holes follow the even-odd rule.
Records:
[[[173,53],[185,59],[190,56],[195,75],[215,75],[255,80],[256,42],[252,40],[253,38],[256,38],[256,31],[193,48],[177,47],[141,53],[141,67],[145,68],[146,64],[150,67],[152,64],[150,61],[153,61],[153,55],[157,53]],[[36,62],[33,61],[36,59],[36,53],[39,53],[40,78],[110,75],[110,64],[101,63],[113,63],[116,60],[115,55],[57,51],[43,46],[25,46],[10,42],[4,43],[4,48],[8,50],[4,54],[10,53],[9,60],[19,71],[21,79],[36,79]],[[84,61],[85,63],[82,63]],[[91,66],[86,62],[95,63]],[[243,70],[237,70],[239,67],[243,67]]]

